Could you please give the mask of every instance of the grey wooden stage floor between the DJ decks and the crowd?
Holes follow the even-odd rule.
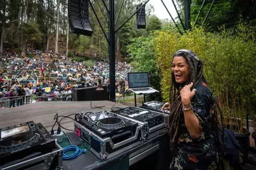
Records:
[[[94,105],[104,105],[105,107],[102,107],[102,109],[90,108],[90,101],[46,101],[22,105],[14,108],[4,108],[0,109],[0,128],[6,128],[8,126],[18,125],[28,121],[34,121],[35,123],[40,122],[48,131],[51,131],[52,126],[55,123],[53,118],[56,113],[58,113],[59,116],[67,116],[72,113],[80,112],[100,112],[103,111],[103,109],[110,111],[110,108],[114,105],[114,102],[92,101],[92,106],[94,107]],[[117,103],[114,107],[126,106]],[[75,115],[71,117],[74,118]],[[61,126],[66,129],[74,129],[73,120],[71,118],[64,118],[64,120],[61,121]],[[54,129],[57,129],[57,125],[55,125]]]

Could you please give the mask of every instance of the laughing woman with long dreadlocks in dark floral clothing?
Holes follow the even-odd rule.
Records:
[[[219,169],[220,154],[215,99],[203,75],[203,63],[191,50],[172,58],[168,121],[170,169]]]

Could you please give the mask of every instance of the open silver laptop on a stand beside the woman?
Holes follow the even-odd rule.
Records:
[[[129,89],[137,95],[159,92],[150,87],[147,72],[128,73]]]

